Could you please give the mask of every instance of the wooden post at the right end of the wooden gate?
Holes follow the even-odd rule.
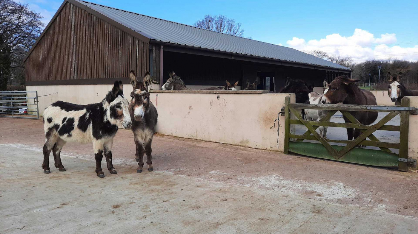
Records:
[[[402,98],[400,106],[409,106],[409,98]],[[400,111],[399,158],[408,160],[409,111]],[[408,162],[399,161],[399,171],[408,171]]]

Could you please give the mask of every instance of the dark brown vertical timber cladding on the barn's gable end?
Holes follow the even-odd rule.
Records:
[[[29,85],[36,81],[76,84],[70,80],[128,78],[131,69],[140,76],[149,70],[148,46],[87,11],[66,3],[28,56],[26,81]],[[97,80],[97,83],[103,82]]]

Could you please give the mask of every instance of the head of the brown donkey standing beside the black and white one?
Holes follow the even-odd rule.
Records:
[[[130,112],[133,113],[136,121],[142,121],[150,105],[150,93],[148,93],[150,73],[147,71],[144,77],[136,77],[134,71],[131,70],[129,76],[133,87],[132,100],[129,104]]]

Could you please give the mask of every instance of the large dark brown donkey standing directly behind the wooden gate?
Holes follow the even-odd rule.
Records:
[[[352,104],[352,105],[377,105],[376,97],[370,91],[360,89],[355,83],[360,80],[353,80],[346,75],[339,76],[328,84],[328,88],[324,91],[323,104]],[[371,111],[350,111],[350,113],[360,123],[370,125],[377,119],[377,112]],[[344,116],[346,123],[351,123],[347,117]],[[354,135],[353,135],[354,131]],[[360,136],[360,129],[347,128],[347,137],[351,141]]]

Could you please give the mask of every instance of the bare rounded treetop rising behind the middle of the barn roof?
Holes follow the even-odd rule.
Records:
[[[238,37],[244,35],[244,29],[241,28],[241,23],[237,23],[234,19],[228,18],[225,15],[205,15],[203,19],[197,20],[194,26]]]

